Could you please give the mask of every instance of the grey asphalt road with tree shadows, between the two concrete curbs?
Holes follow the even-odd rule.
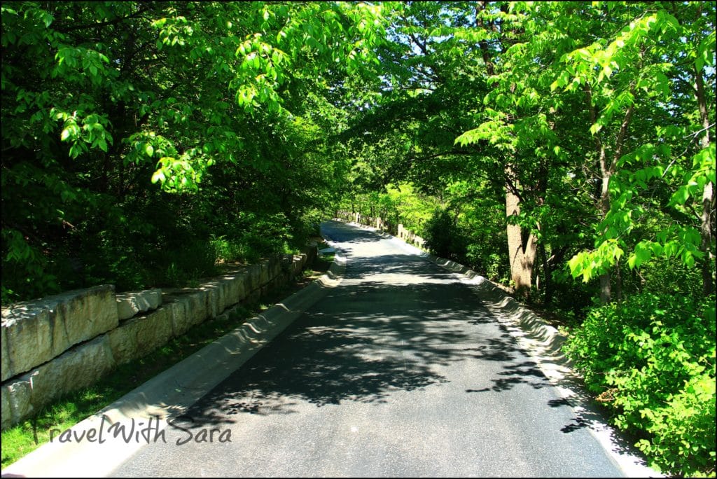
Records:
[[[343,283],[114,475],[622,475],[459,276],[324,227]]]

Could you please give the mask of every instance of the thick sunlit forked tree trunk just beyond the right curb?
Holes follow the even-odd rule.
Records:
[[[505,216],[518,216],[521,212],[520,199],[511,190],[505,188]],[[533,264],[536,260],[538,242],[533,234],[526,235],[518,224],[507,224],[508,257],[511,261],[511,279],[516,293],[528,296],[533,278]]]

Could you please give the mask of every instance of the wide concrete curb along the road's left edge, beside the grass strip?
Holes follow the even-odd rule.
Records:
[[[345,271],[346,258],[337,253],[325,275],[125,394],[69,432],[57,432],[53,442],[3,469],[2,477],[77,478],[110,474],[143,445],[161,438],[168,419],[181,415],[341,283]],[[120,434],[123,427],[133,433]],[[63,442],[63,436],[68,440]]]

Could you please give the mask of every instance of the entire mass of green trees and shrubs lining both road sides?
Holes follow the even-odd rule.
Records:
[[[3,302],[181,284],[353,209],[571,319],[614,422],[714,475],[715,10],[6,2]]]

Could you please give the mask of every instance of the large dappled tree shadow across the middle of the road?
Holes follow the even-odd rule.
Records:
[[[547,384],[455,275],[412,255],[349,265],[344,283],[318,308],[189,410],[196,427],[246,413],[291,414],[307,402],[381,404],[397,391],[445,383],[443,366],[457,361],[503,363],[476,391]]]

